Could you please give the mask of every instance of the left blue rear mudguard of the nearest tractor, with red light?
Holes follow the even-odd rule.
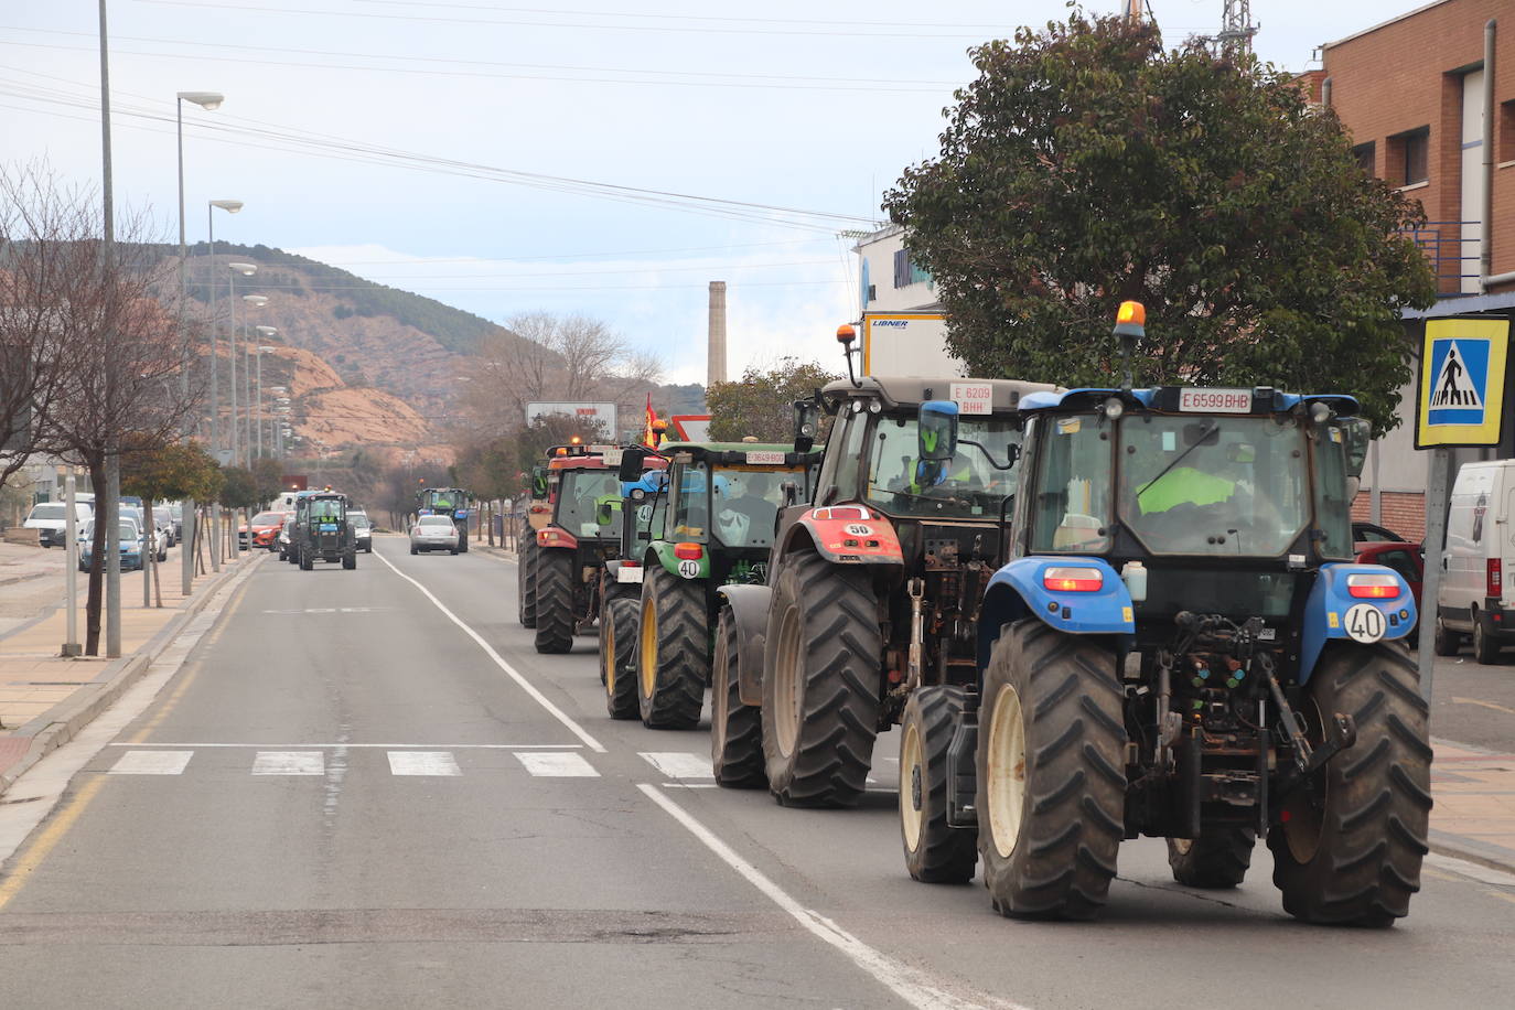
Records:
[[[1048,568],[1095,569],[1098,589],[1048,589]],[[1036,616],[1070,634],[1135,634],[1132,595],[1110,565],[1098,557],[1018,557],[989,578],[979,615],[979,671],[989,662],[1000,628]]]

